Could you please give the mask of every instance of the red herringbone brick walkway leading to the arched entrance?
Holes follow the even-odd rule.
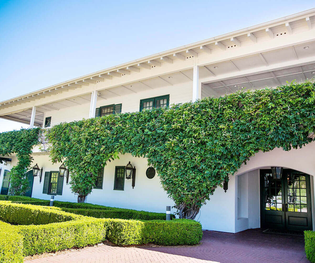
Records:
[[[237,234],[203,231],[202,244],[191,247],[112,247],[101,245],[24,263],[304,263],[303,236],[263,233],[250,229]]]

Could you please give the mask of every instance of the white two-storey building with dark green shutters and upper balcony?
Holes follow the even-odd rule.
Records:
[[[314,75],[315,9],[310,9],[0,102],[0,117],[29,123],[30,127],[47,127],[114,111],[135,112],[207,96],[224,96],[243,87],[276,87]],[[289,152],[274,149],[257,153],[230,177],[226,193],[222,188],[215,191],[196,220],[201,221],[204,229],[232,233],[258,227],[314,229],[314,151],[315,143],[310,143]],[[55,200],[76,202],[70,185],[54,173],[60,164],[52,164],[49,153],[38,148],[33,149],[33,157],[33,165],[43,167],[43,178],[40,183],[39,177],[30,176],[29,194],[42,199],[56,194]],[[0,165],[2,194],[9,184],[6,170],[17,161],[15,155],[5,158],[12,161]],[[119,179],[121,166],[128,161],[137,169],[134,189],[131,180]],[[284,168],[282,180],[264,182],[271,174],[271,166]],[[174,203],[161,188],[157,175],[152,179],[146,176],[147,168],[144,158],[129,154],[108,163],[100,173],[98,188],[93,189],[87,201],[165,211],[165,206]],[[292,181],[287,177],[294,178],[295,185],[300,183],[298,193],[294,188],[291,190]]]

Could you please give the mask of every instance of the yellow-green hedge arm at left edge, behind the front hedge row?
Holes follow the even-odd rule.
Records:
[[[0,220],[10,224],[39,225],[77,219],[78,215],[47,207],[0,201]]]

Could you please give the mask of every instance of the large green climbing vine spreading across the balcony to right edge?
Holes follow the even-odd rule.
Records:
[[[90,194],[97,170],[128,152],[147,158],[181,217],[194,218],[190,213],[256,152],[288,151],[314,140],[314,100],[314,83],[291,83],[61,123],[46,135],[52,161],[65,160],[71,171],[74,193]]]

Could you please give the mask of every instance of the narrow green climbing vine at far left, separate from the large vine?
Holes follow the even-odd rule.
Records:
[[[0,155],[16,154],[18,163],[10,171],[9,194],[24,195],[28,190],[25,174],[33,160],[32,147],[38,143],[40,128],[0,133]]]

